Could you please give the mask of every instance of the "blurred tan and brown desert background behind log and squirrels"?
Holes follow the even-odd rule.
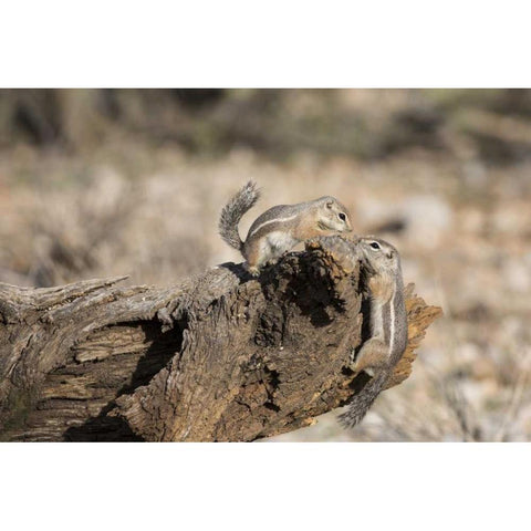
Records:
[[[531,438],[531,91],[0,90],[0,282],[167,285],[241,261],[217,235],[323,195],[402,252],[445,316],[412,376],[343,430],[270,440]]]

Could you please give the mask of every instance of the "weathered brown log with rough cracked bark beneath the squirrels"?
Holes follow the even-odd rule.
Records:
[[[122,278],[0,284],[3,440],[253,440],[311,424],[367,381],[353,243],[324,238],[260,279],[228,263],[174,288]],[[407,290],[412,371],[440,314]]]

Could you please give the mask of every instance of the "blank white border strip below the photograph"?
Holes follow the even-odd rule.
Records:
[[[527,444],[3,444],[0,456],[4,529],[446,531],[529,520]]]

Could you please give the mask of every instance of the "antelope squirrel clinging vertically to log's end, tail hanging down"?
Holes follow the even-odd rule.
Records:
[[[351,368],[372,378],[347,410],[340,416],[345,427],[358,424],[383,391],[407,345],[407,314],[404,301],[400,257],[386,241],[363,237],[356,242],[369,300],[371,337],[363,344]]]

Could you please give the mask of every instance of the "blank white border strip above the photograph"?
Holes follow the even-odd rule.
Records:
[[[2,2],[1,86],[531,86],[527,2]]]

